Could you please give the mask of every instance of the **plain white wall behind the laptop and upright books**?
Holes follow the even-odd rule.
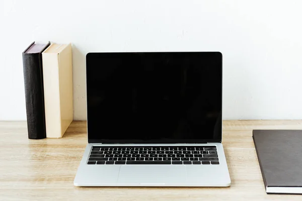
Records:
[[[76,3],[79,2],[79,3]],[[26,120],[22,51],[73,44],[74,119],[85,55],[221,51],[224,119],[302,119],[302,1],[0,1],[0,120]]]

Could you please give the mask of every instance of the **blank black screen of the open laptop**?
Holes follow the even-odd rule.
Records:
[[[89,143],[221,142],[221,53],[88,53],[86,64]]]

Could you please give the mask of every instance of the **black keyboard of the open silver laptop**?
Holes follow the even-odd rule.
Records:
[[[110,147],[93,146],[89,165],[218,165],[216,146]]]

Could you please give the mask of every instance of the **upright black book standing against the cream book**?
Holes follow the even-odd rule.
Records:
[[[46,138],[42,52],[49,45],[33,42],[22,53],[29,139]]]

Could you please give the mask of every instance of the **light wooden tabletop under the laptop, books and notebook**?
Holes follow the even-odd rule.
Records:
[[[302,121],[223,121],[231,187],[76,187],[86,122],[43,140],[28,139],[26,122],[0,122],[0,200],[302,200],[265,193],[253,129],[302,129]]]

